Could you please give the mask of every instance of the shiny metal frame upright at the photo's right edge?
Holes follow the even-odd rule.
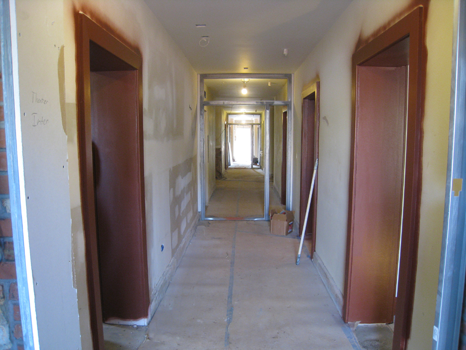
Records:
[[[466,274],[466,0],[454,4],[448,163],[433,350],[457,350]]]

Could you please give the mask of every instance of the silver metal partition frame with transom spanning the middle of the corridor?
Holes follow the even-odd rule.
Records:
[[[287,80],[287,100],[286,101],[205,101],[204,100],[204,80],[205,79],[286,79]],[[207,106],[235,106],[235,105],[254,105],[265,106],[265,157],[264,157],[264,216],[259,218],[238,218],[238,220],[269,220],[269,198],[270,198],[270,166],[269,166],[269,146],[270,146],[270,108],[273,106],[286,106],[289,111],[287,119],[287,173],[289,174],[286,183],[286,209],[292,210],[292,186],[291,179],[293,178],[292,157],[293,154],[293,75],[292,74],[199,74],[198,75],[198,112],[200,116],[199,130],[199,154],[200,154],[200,200],[201,200],[201,220],[226,220],[220,217],[206,217],[206,170],[205,170],[205,139],[204,139],[204,108]]]

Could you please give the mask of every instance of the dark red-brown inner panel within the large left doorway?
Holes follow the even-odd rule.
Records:
[[[148,316],[137,149],[137,71],[91,72],[92,144],[104,322]],[[141,302],[142,301],[142,302]]]

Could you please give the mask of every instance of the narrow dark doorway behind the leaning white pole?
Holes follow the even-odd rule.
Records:
[[[319,89],[320,82],[315,82],[304,93],[303,123],[301,129],[301,192],[299,202],[299,233],[303,232],[304,217],[311,190],[312,174],[315,160],[319,157]],[[314,258],[315,232],[317,221],[317,174],[309,209],[305,235],[311,235],[311,259]],[[306,238],[307,239],[307,238]]]

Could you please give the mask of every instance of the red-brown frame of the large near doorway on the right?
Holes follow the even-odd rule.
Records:
[[[357,66],[380,54],[394,44],[409,37],[408,111],[406,138],[406,172],[402,239],[399,264],[396,322],[393,334],[393,350],[406,349],[411,332],[414,286],[419,239],[419,209],[422,178],[422,119],[425,90],[425,43],[423,31],[423,7],[419,6],[406,17],[373,39],[353,54],[352,63],[352,119],[351,159],[348,206],[348,236],[346,245],[346,271],[343,298],[343,319],[348,322],[350,276],[353,254],[353,223],[355,212],[355,156],[356,156],[356,78]]]

